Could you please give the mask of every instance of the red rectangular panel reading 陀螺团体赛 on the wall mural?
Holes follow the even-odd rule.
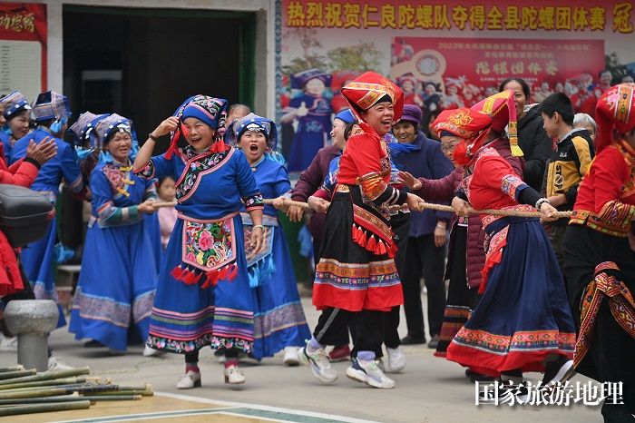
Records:
[[[604,42],[395,37],[391,62],[390,76],[396,80],[408,75],[438,87],[454,84],[469,91],[475,86],[480,89],[475,93],[484,93],[487,87],[497,91],[509,77],[521,77],[535,87],[543,82],[553,87],[582,74],[597,75],[604,68]]]

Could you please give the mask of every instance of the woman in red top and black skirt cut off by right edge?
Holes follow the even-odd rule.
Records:
[[[598,154],[578,189],[564,237],[564,273],[576,326],[574,364],[601,382],[622,382],[623,405],[604,401],[605,422],[635,413],[635,84],[598,100]]]

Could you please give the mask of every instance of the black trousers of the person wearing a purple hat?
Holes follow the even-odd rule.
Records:
[[[425,279],[428,300],[430,336],[441,333],[445,310],[445,254],[446,246],[435,246],[435,235],[410,237],[405,251],[404,289],[405,322],[408,335],[425,338],[424,311],[421,305],[421,276]]]

